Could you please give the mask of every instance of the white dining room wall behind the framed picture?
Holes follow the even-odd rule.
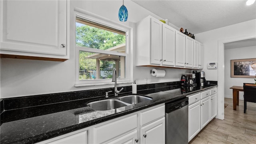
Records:
[[[256,58],[256,46],[249,46],[243,48],[225,49],[225,84],[224,97],[233,98],[233,91],[231,86],[243,86],[243,83],[254,83],[254,78],[231,78],[231,63],[230,60]],[[239,99],[244,100],[244,92],[239,92]]]

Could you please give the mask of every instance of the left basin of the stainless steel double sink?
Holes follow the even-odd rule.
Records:
[[[98,100],[95,102],[90,102],[87,105],[94,110],[112,110],[115,108],[128,106],[130,104],[126,104],[125,102],[122,102],[120,100],[107,99],[107,100]]]

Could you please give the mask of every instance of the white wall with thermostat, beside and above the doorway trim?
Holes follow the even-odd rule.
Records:
[[[256,36],[256,19],[249,20],[195,35],[204,44],[204,69],[206,80],[218,80],[217,69],[207,69],[208,62],[218,62],[218,41],[227,38]]]

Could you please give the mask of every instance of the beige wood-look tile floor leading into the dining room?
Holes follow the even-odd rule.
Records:
[[[244,101],[233,110],[233,100],[225,98],[224,120],[214,118],[189,144],[256,144],[256,103]]]

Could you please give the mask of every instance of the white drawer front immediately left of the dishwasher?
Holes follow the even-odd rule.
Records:
[[[153,108],[152,110],[147,110],[145,112],[140,113],[140,125],[143,126],[144,124],[161,118],[165,116],[165,105],[160,106],[157,108]]]

